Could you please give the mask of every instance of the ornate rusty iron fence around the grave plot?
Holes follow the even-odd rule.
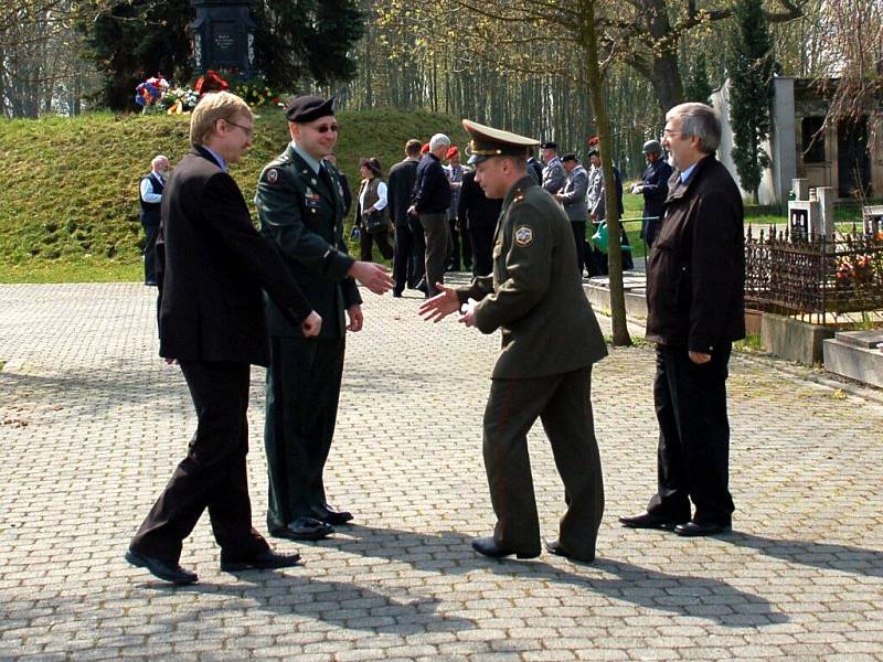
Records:
[[[883,310],[883,233],[790,236],[770,227],[745,241],[745,303],[825,323]]]

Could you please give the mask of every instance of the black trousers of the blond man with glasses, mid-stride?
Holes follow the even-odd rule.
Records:
[[[248,452],[247,363],[182,361],[196,433],[131,542],[136,552],[177,564],[181,543],[208,508],[224,554],[248,558],[268,548],[252,527],[245,456]]]

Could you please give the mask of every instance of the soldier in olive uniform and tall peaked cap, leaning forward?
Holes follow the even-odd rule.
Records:
[[[472,547],[493,558],[540,555],[528,457],[528,433],[540,418],[567,503],[558,538],[547,542],[546,549],[591,562],[604,511],[592,364],[607,350],[577,275],[573,233],[561,206],[525,170],[535,140],[467,119],[462,126],[472,137],[469,163],[476,167],[476,181],[488,197],[503,199],[493,274],[466,287],[438,284],[440,293],[419,312],[437,322],[462,307],[461,323],[502,334],[483,435],[497,525],[493,536],[476,538]]]

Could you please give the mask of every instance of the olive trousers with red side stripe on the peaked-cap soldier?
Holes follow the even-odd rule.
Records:
[[[604,512],[604,481],[592,416],[592,367],[530,380],[491,380],[485,409],[485,469],[500,546],[540,551],[540,521],[528,457],[528,431],[539,417],[564,482],[567,510],[558,540],[592,558]]]

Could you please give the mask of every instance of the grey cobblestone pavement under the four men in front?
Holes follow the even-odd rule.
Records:
[[[480,419],[498,337],[424,323],[366,295],[350,339],[333,502],[357,514],[294,545],[306,565],[224,574],[208,519],[200,583],[123,560],[194,415],[157,359],[155,290],[0,287],[0,658],[199,660],[883,660],[883,406],[735,359],[735,531],[619,527],[655,485],[649,349],[596,366],[607,510],[598,559],[476,556],[493,524]],[[255,524],[264,528],[263,371],[253,371]],[[531,438],[544,534],[563,494]]]

